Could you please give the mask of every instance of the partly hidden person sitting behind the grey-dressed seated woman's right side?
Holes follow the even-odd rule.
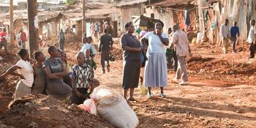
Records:
[[[64,83],[67,83],[67,85],[69,85],[72,88],[72,80],[69,76],[69,75],[71,75],[72,71],[71,71],[71,67],[69,67],[69,64],[67,64],[67,54],[62,51],[60,53],[59,58],[61,59],[61,61],[63,61],[64,69],[68,74],[63,78],[63,81],[64,81]]]

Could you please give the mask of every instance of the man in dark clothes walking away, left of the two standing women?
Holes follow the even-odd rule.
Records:
[[[108,29],[104,29],[104,34],[99,39],[99,53],[101,56],[102,71],[105,74],[105,61],[107,61],[107,69],[110,72],[109,54],[113,49],[113,39],[108,34]]]

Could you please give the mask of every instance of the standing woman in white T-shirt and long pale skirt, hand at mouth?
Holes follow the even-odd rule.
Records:
[[[144,72],[144,85],[148,87],[147,98],[151,98],[151,88],[160,88],[160,97],[165,98],[164,87],[167,86],[167,61],[165,46],[169,45],[167,34],[162,32],[164,23],[157,20],[154,23],[154,31],[143,36],[141,42],[148,42],[148,51]]]

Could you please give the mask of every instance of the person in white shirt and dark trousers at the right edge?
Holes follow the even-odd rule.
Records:
[[[248,38],[247,38],[247,42],[249,43],[249,59],[253,59],[255,58],[255,20],[251,20],[250,21],[251,24],[251,29],[249,30],[249,34],[248,34]]]

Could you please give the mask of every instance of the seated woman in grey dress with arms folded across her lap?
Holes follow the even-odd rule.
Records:
[[[48,48],[50,57],[47,58],[43,64],[47,75],[46,93],[56,99],[64,99],[71,94],[72,89],[63,78],[69,74],[65,71],[64,64],[59,59],[59,52],[56,47],[50,46]]]

